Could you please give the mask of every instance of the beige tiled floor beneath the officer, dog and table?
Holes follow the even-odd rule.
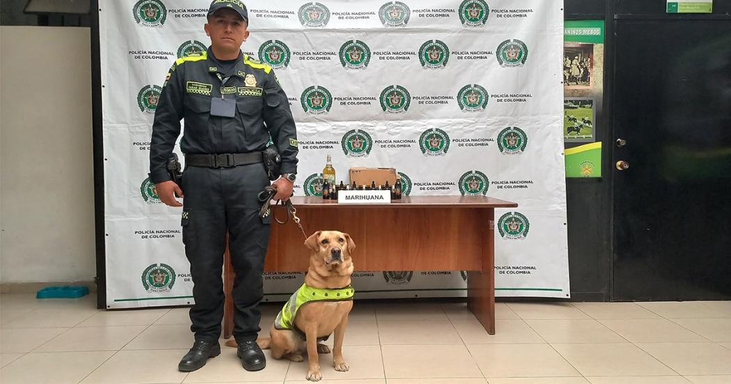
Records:
[[[229,347],[178,372],[192,343],[187,309],[94,302],[1,295],[0,383],[307,383],[306,363],[246,372]],[[278,310],[265,306],[262,328]],[[321,355],[322,383],[731,384],[730,301],[499,303],[497,318],[490,336],[465,304],[356,303],[350,371]]]

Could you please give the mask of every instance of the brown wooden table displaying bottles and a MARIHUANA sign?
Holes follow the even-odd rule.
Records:
[[[485,330],[495,334],[495,208],[518,204],[486,196],[405,196],[390,204],[368,205],[292,197],[292,203],[308,236],[317,230],[350,234],[356,244],[352,255],[356,271],[467,271],[467,306]],[[286,216],[281,206],[276,214]],[[309,250],[303,243],[294,222],[273,222],[265,271],[307,271]],[[235,276],[228,248],[224,263],[228,339]]]

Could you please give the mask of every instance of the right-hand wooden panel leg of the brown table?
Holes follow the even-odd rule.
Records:
[[[485,209],[482,271],[467,272],[467,307],[488,334],[495,334],[495,210]]]

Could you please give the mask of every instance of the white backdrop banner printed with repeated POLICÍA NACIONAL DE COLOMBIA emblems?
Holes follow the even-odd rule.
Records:
[[[497,295],[569,297],[562,1],[321,1],[245,1],[242,49],[273,67],[297,122],[295,193],[321,192],[330,154],[338,176],[396,167],[407,195],[515,201],[496,210]],[[167,70],[210,44],[208,4],[99,1],[108,308],[192,303],[181,211],[160,203],[148,152]],[[266,274],[266,298],[301,282]],[[463,296],[466,274],[354,285],[362,298]]]

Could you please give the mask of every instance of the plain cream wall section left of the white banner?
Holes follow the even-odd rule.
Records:
[[[0,27],[1,283],[96,275],[89,34]]]

